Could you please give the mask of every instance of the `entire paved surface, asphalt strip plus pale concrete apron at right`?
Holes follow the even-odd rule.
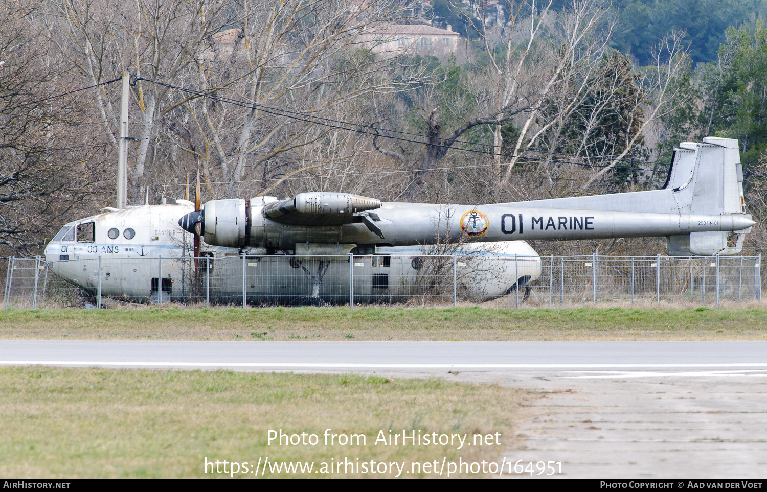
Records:
[[[767,342],[0,340],[0,366],[364,372],[532,389],[507,461],[590,478],[759,478]],[[509,436],[506,436],[509,437]],[[523,475],[524,476],[524,475]]]

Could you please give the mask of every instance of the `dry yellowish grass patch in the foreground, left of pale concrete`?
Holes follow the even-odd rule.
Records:
[[[0,369],[0,395],[0,474],[9,477],[204,477],[206,457],[250,467],[267,456],[313,461],[315,471],[344,457],[494,459],[494,446],[373,443],[380,429],[420,429],[499,432],[510,444],[527,398],[521,390],[439,379],[48,367]],[[367,445],[268,446],[268,429],[278,428],[362,433]]]

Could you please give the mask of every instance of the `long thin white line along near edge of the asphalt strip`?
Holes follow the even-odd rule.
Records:
[[[0,360],[0,366],[171,366],[171,367],[297,367],[343,369],[693,369],[728,367],[763,367],[767,362],[734,363],[653,363],[653,364],[420,364],[385,362],[167,362],[167,361],[101,361],[101,360]],[[649,374],[649,373],[648,373]],[[655,373],[653,373],[655,374]],[[590,377],[590,376],[571,376]],[[613,377],[613,376],[604,376]]]

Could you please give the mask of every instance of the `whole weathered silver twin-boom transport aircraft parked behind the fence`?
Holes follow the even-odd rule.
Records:
[[[669,178],[659,190],[478,206],[380,202],[329,192],[288,200],[212,200],[202,208],[177,200],[110,208],[70,222],[48,244],[45,257],[54,272],[88,290],[95,290],[100,276],[104,295],[146,300],[159,291],[180,300],[184,289],[174,285],[189,285],[191,267],[178,265],[189,257],[183,244],[191,235],[194,256],[246,255],[241,263],[225,263],[227,270],[210,285],[219,299],[242,298],[245,289],[249,303],[345,302],[351,267],[355,296],[377,301],[401,300],[416,291],[424,271],[422,250],[428,249],[420,245],[452,243],[462,258],[474,261],[465,275],[468,292],[492,298],[540,274],[540,258],[525,239],[667,236],[672,256],[739,253],[755,224],[742,190],[737,140],[707,137],[675,149]],[[492,252],[492,260],[483,251]],[[350,265],[349,253],[364,261],[355,256]],[[247,255],[258,255],[258,261]],[[94,268],[98,257],[100,271]],[[252,271],[262,261],[270,262],[272,274]],[[206,260],[202,268],[210,264]]]

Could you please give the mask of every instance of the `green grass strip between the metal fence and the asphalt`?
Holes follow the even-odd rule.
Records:
[[[0,339],[767,339],[767,310],[707,307],[0,310]]]

